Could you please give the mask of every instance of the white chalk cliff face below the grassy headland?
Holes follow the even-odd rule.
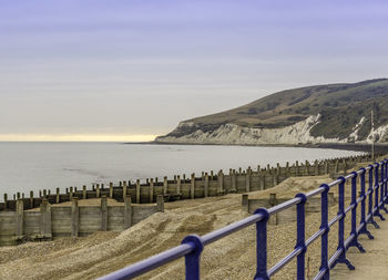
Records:
[[[359,123],[347,138],[325,138],[315,137],[310,134],[312,128],[319,123],[320,114],[310,115],[302,122],[280,128],[253,128],[243,127],[237,124],[223,124],[214,131],[203,132],[194,122],[182,122],[174,132],[190,131],[191,133],[174,133],[160,136],[156,143],[180,143],[180,144],[237,144],[237,145],[261,145],[261,144],[316,144],[316,143],[369,143],[372,137],[376,142],[387,142],[388,125],[377,127],[371,131],[367,139],[360,141],[358,137],[359,127],[365,123],[361,117]]]

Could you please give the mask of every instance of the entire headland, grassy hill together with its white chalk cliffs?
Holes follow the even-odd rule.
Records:
[[[375,129],[370,111],[375,112]],[[388,81],[318,85],[275,93],[227,112],[181,122],[156,143],[388,143]]]

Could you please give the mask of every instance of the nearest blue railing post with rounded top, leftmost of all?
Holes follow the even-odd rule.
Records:
[[[201,252],[204,249],[202,238],[197,235],[190,235],[182,240],[182,243],[193,247],[193,251],[185,256],[186,280],[200,280]]]

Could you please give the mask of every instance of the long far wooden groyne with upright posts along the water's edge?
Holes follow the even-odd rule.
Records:
[[[231,193],[246,193],[270,188],[288,177],[324,174],[336,176],[351,168],[357,163],[370,160],[370,155],[361,155],[315,160],[314,163],[296,162],[293,165],[287,163],[286,166],[280,166],[279,164],[275,167],[270,167],[269,165],[266,167],[257,166],[255,169],[249,167],[246,170],[242,168],[238,170],[229,169],[227,173],[219,170],[215,174],[211,170],[210,173],[203,172],[200,176],[192,174],[190,177],[185,175],[181,177],[177,175],[173,178],[164,177],[162,180],[150,178],[142,183],[137,179],[135,182],[120,182],[116,185],[110,183],[109,186],[95,184],[92,185],[91,189],[88,189],[86,186],[82,188],[70,187],[65,189],[64,194],[61,194],[59,188],[57,188],[55,194],[43,189],[39,191],[38,197],[31,191],[29,197],[17,193],[13,195],[13,199],[9,199],[6,194],[4,203],[0,204],[0,211],[16,210],[18,199],[22,201],[24,209],[31,209],[39,207],[44,198],[49,204],[53,205],[70,201],[73,198],[88,199],[100,198],[102,196],[116,199],[118,201],[124,201],[126,196],[131,196],[132,201],[135,204],[152,204],[156,201],[156,197],[160,195],[163,196],[165,201],[173,201]]]

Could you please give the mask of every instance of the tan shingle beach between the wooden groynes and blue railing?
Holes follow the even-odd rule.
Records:
[[[326,177],[314,178],[329,182]],[[278,188],[295,191],[315,188],[312,178],[290,178]],[[318,184],[318,185],[319,185]],[[314,186],[313,186],[314,185]],[[268,190],[272,193],[275,188]],[[267,190],[265,190],[267,191]],[[263,191],[262,195],[266,196]],[[253,196],[261,196],[253,194]],[[95,279],[146,257],[180,245],[188,234],[204,235],[247,217],[241,207],[241,195],[231,194],[165,205],[157,212],[123,232],[95,232],[84,238],[62,238],[54,241],[29,242],[0,248],[0,279]],[[92,203],[90,200],[90,203]],[[337,206],[330,208],[335,217]],[[350,215],[346,217],[349,232]],[[306,237],[318,230],[320,214],[307,217]],[[289,253],[295,246],[295,222],[268,226],[268,268]],[[329,232],[330,255],[337,248],[337,227]],[[307,250],[308,276],[314,276],[320,262],[320,239]],[[253,279],[255,273],[255,227],[251,226],[215,243],[206,246],[202,256],[202,279]],[[307,262],[307,261],[306,261]],[[273,279],[295,279],[295,261]],[[174,261],[140,279],[183,279],[184,260]]]

